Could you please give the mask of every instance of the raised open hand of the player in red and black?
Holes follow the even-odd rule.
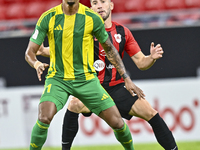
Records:
[[[164,51],[160,44],[157,44],[154,47],[154,42],[152,42],[150,46],[150,53],[151,53],[151,58],[157,60],[159,58],[162,58]]]

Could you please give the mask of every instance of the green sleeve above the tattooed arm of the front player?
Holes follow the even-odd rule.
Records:
[[[105,30],[104,21],[99,15],[96,15],[93,19],[94,19],[94,27],[93,27],[94,36],[98,39],[100,43],[104,43],[108,39],[108,33]]]

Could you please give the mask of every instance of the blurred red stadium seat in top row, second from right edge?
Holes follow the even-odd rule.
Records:
[[[165,0],[166,9],[184,9],[184,0]]]

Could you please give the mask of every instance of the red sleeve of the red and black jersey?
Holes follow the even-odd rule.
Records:
[[[126,34],[125,51],[130,57],[132,57],[133,55],[141,51],[141,49],[128,28],[125,28],[125,34]]]

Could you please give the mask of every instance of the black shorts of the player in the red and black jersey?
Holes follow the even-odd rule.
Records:
[[[104,88],[114,100],[121,116],[127,120],[130,120],[132,116],[128,113],[130,112],[135,101],[138,99],[138,96],[132,96],[124,87],[124,83]],[[83,115],[86,117],[90,116],[91,114],[92,113],[83,113]]]

